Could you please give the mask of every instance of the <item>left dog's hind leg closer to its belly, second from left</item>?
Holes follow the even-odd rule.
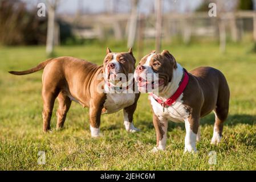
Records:
[[[58,107],[58,110],[57,110],[57,113],[56,113],[56,115],[58,117],[56,129],[59,130],[59,129],[62,129],[62,127],[64,126],[64,122],[65,122],[65,119],[66,119],[66,116],[67,116],[67,112],[70,109],[70,105],[71,105],[72,101],[63,92],[59,93],[57,99],[58,99],[58,102],[59,102],[59,107]]]

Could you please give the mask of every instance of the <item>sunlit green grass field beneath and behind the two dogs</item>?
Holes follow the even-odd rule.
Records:
[[[44,47],[0,47],[0,170],[256,170],[256,55],[250,44],[227,45],[224,54],[217,44],[163,45],[178,63],[190,70],[208,65],[220,69],[230,86],[230,112],[224,137],[211,146],[214,114],[201,119],[198,153],[183,154],[184,124],[169,122],[166,151],[151,154],[156,144],[147,94],[142,94],[134,115],[140,133],[127,133],[123,115],[101,116],[100,139],[90,137],[88,109],[72,103],[62,131],[42,133],[42,71],[14,76],[10,70],[34,67],[46,59]],[[101,64],[104,45],[56,48],[56,56],[75,56]],[[127,51],[120,44],[112,51]],[[148,46],[144,53],[151,51]],[[134,51],[137,55],[136,50]],[[192,95],[193,97],[193,95]],[[52,129],[56,117],[52,118]],[[46,152],[46,164],[38,164],[38,152]],[[215,151],[217,163],[209,164]]]

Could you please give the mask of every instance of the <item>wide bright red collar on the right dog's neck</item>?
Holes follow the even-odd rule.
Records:
[[[185,90],[186,85],[188,85],[188,82],[189,82],[189,75],[185,68],[183,68],[183,72],[184,72],[184,76],[182,78],[180,86],[178,86],[178,89],[176,90],[176,92],[172,96],[170,96],[168,100],[162,101],[155,94],[150,93],[150,96],[152,96],[159,104],[161,104],[162,107],[172,105],[178,99],[178,97],[180,97],[182,92]]]

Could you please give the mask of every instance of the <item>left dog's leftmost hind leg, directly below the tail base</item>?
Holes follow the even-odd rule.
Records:
[[[51,115],[52,109],[54,108],[54,101],[58,93],[56,91],[47,90],[43,86],[42,97],[43,97],[43,131],[47,132],[51,129]]]

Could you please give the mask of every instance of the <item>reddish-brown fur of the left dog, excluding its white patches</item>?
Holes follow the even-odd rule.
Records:
[[[121,63],[123,73],[133,73],[135,69],[135,58],[132,55],[132,49],[129,52],[118,53],[119,60],[122,57],[125,61]],[[43,131],[50,130],[50,121],[54,101],[57,98],[59,108],[57,111],[58,121],[57,129],[64,126],[66,115],[70,109],[71,99],[78,101],[83,107],[90,107],[90,123],[92,127],[99,128],[100,115],[104,111],[104,102],[106,94],[97,90],[97,84],[103,80],[97,79],[97,76],[103,73],[103,68],[111,58],[111,51],[107,49],[107,56],[103,65],[96,65],[86,60],[75,57],[58,57],[49,59],[40,63],[35,68],[23,72],[10,72],[14,75],[25,75],[44,69],[43,71]],[[107,61],[106,61],[107,60]],[[132,122],[132,115],[136,109],[139,94],[133,105],[125,108],[129,115],[129,122]]]

